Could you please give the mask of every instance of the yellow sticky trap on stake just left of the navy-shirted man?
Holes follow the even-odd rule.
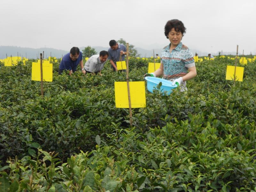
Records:
[[[48,61],[49,62],[49,61]],[[40,63],[32,62],[32,81],[41,81]],[[52,82],[52,63],[43,63],[43,81]]]

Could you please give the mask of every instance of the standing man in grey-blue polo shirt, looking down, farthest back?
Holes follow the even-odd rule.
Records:
[[[126,55],[126,47],[123,44],[116,43],[115,40],[109,41],[110,48],[108,49],[108,60],[112,65],[113,71],[117,71],[116,61],[124,61],[124,55]],[[120,60],[121,56],[121,60]],[[126,71],[125,69],[122,71]]]

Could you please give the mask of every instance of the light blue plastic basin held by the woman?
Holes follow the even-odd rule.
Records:
[[[165,79],[161,79],[161,78],[157,78],[157,77],[145,77],[145,79],[147,80],[147,88],[148,91],[153,93],[153,89],[156,89],[156,86],[162,82],[162,86],[160,87],[161,92],[166,91],[167,95],[170,95],[172,92],[172,89],[178,87],[176,84],[172,86],[172,82],[165,80]]]

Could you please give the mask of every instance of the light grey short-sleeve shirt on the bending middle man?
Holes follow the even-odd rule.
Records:
[[[89,72],[99,72],[104,67],[105,63],[100,61],[100,54],[92,55],[84,64],[84,69]]]

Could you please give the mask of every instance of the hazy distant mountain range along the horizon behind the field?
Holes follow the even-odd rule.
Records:
[[[100,52],[102,50],[108,51],[109,47],[101,47],[101,46],[92,46],[96,50],[96,52]],[[140,57],[151,57],[153,56],[153,49],[152,50],[146,50],[142,49],[140,47],[135,47],[140,54]],[[80,51],[84,49],[84,47],[79,47]],[[39,48],[39,49],[33,49],[33,48],[26,48],[26,47],[15,47],[15,46],[0,46],[0,59],[4,59],[7,56],[21,56],[26,57],[29,59],[36,59],[40,57],[40,53],[43,53],[44,51],[44,58],[47,57],[57,57],[61,58],[63,55],[67,54],[69,50],[59,50],[59,49],[53,49],[53,48]],[[154,49],[155,54],[159,54],[161,56],[161,49]],[[197,53],[199,56],[207,56],[207,52],[201,52],[198,50],[191,49],[191,52],[193,55]],[[236,52],[223,52],[223,55],[235,55]],[[212,53],[212,55],[218,55],[218,53]]]

